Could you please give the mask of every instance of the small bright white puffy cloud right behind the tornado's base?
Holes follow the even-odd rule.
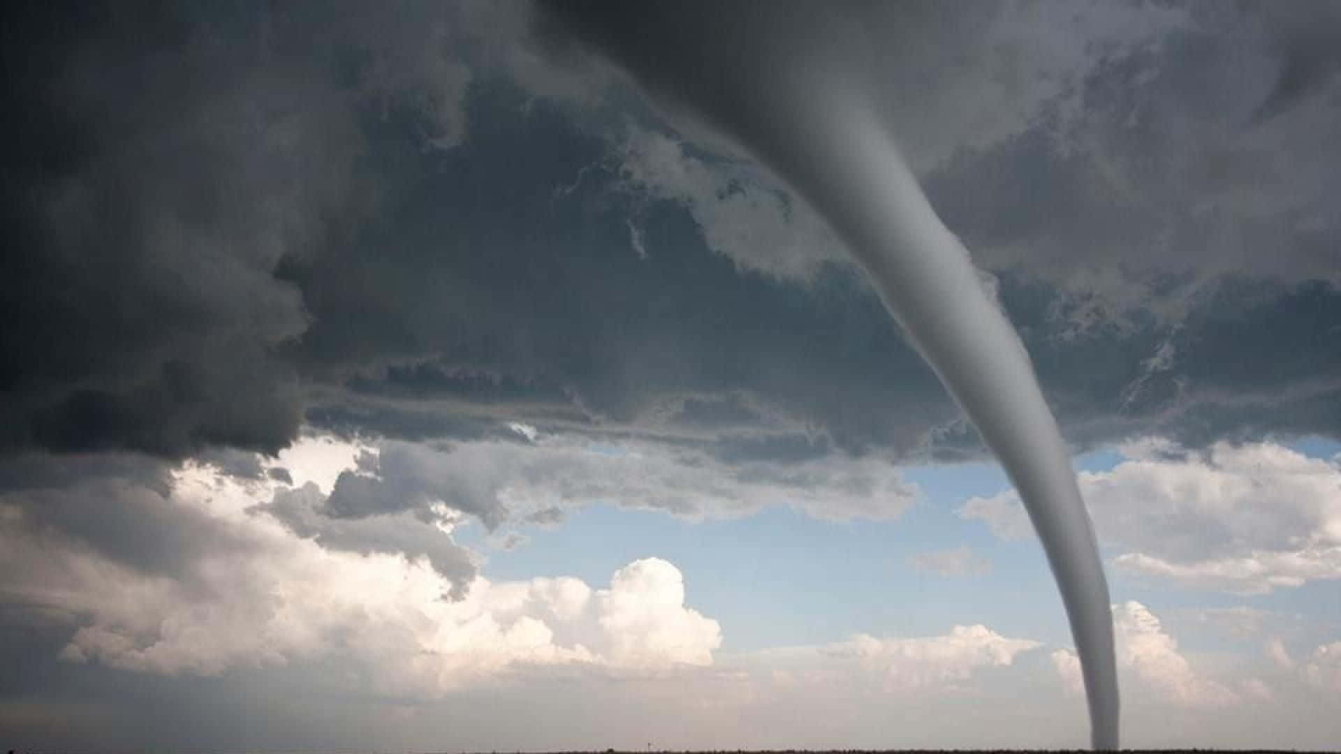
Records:
[[[1145,605],[1137,601],[1113,605],[1113,629],[1118,671],[1125,683],[1134,682],[1145,694],[1180,707],[1214,708],[1240,700],[1228,687],[1199,675]],[[1084,686],[1075,652],[1057,649],[1050,659],[1067,688],[1080,694]]]

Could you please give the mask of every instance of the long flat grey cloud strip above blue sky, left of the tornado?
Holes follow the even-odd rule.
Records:
[[[601,443],[566,436],[433,447],[405,441],[370,445],[361,468],[339,474],[323,513],[334,519],[414,513],[441,503],[479,518],[547,521],[557,511],[603,502],[689,519],[738,517],[790,506],[810,517],[893,519],[920,496],[898,470],[874,457],[810,457],[795,463],[748,457],[734,463],[703,449],[648,441]]]

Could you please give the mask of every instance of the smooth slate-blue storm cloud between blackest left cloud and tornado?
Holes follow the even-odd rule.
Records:
[[[365,404],[369,428],[449,433],[437,425],[445,419],[425,413],[432,401],[620,425],[687,393],[720,402],[744,389],[858,449],[909,447],[919,423],[952,416],[850,271],[825,270],[810,286],[738,274],[670,203],[644,217],[648,243],[668,251],[641,259],[609,177],[557,199],[555,186],[603,160],[607,145],[543,103],[520,117],[518,94],[499,83],[472,95],[472,117],[492,127],[434,160],[409,162],[397,150],[412,145],[392,140],[378,153],[396,170],[401,201],[365,227],[359,244],[286,271],[312,314],[299,358],[334,376],[367,360],[401,361],[346,378],[355,405],[404,407]],[[359,421],[349,404],[310,417]]]

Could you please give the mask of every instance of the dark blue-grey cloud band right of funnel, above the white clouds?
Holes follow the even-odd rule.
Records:
[[[1093,447],[1163,435],[1189,447],[1341,428],[1341,291],[1322,282],[1220,282],[1176,327],[1144,318],[1122,331],[1059,339],[1045,286],[1003,276],[1016,322],[1067,437]],[[945,451],[971,433],[945,435]]]

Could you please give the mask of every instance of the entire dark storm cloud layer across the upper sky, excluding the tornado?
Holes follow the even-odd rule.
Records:
[[[1021,60],[995,121],[972,109],[991,55],[941,70],[909,44],[889,70],[941,86],[888,87],[1069,437],[1336,431],[1338,298],[1307,283],[1336,267],[1332,15],[1101,5],[1063,34],[1006,4],[907,13],[900,34]],[[609,72],[538,74],[575,58],[528,43],[524,7],[166,7],[148,36],[83,15],[9,25],[30,115],[7,125],[8,447],[274,451],[304,413],[405,437],[645,429],[743,397],[848,451],[978,452],[805,207],[637,106],[621,125]]]

